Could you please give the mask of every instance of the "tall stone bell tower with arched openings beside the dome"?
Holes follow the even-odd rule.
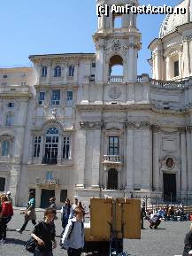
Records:
[[[141,50],[141,33],[136,27],[136,14],[126,12],[127,5],[137,6],[137,0],[96,0],[97,7],[108,8],[108,15],[98,17],[96,43],[96,82],[136,81],[137,56]],[[112,75],[114,66],[121,75]]]

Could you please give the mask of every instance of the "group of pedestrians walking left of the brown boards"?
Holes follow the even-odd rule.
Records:
[[[32,221],[34,230],[27,244],[35,244],[33,251],[30,245],[30,251],[34,256],[53,256],[52,249],[57,247],[56,228],[54,221],[57,217],[56,198],[50,198],[50,206],[45,209],[43,218],[36,223],[35,213],[35,193],[29,193],[29,199],[26,204],[24,214],[24,223],[20,229],[16,229],[20,234],[26,229],[28,221]],[[7,192],[0,196],[0,243],[6,241],[7,223],[11,221],[13,215],[11,193]],[[84,247],[84,215],[85,210],[81,202],[75,198],[71,206],[70,200],[66,198],[65,204],[61,208],[61,221],[63,231],[60,237],[62,249],[67,250],[68,256],[80,256]]]

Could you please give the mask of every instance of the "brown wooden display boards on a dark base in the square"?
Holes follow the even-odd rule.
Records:
[[[86,252],[123,255],[123,238],[141,238],[141,200],[91,198],[85,228]]]

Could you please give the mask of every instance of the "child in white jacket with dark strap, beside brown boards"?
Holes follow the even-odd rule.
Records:
[[[84,247],[83,212],[80,207],[74,209],[74,217],[70,219],[62,238],[68,256],[81,256]]]

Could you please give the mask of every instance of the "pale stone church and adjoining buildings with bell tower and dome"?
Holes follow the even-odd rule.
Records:
[[[192,3],[179,5],[187,13],[167,15],[150,43],[152,78],[137,74],[133,13],[98,17],[96,53],[32,55],[33,68],[0,69],[0,191],[16,206],[28,190],[37,207],[53,196],[59,206],[191,192]]]

